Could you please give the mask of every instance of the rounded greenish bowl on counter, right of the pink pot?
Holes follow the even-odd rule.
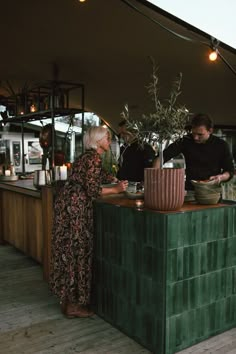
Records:
[[[221,187],[215,181],[191,181],[195,189],[195,199],[199,204],[217,204],[221,197]]]

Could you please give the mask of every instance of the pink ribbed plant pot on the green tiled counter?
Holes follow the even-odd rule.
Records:
[[[146,168],[144,170],[144,205],[156,210],[178,210],[184,203],[183,168]]]

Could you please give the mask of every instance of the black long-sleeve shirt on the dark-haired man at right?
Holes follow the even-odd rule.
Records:
[[[233,157],[223,139],[210,135],[204,144],[194,141],[192,135],[169,145],[163,152],[164,162],[182,153],[186,164],[186,189],[193,189],[191,180],[205,180],[210,176],[229,172],[234,174]]]

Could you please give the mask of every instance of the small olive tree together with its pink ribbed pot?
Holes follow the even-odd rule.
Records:
[[[153,59],[152,68],[152,80],[147,90],[154,104],[153,112],[134,119],[130,117],[126,105],[122,115],[141,144],[148,142],[158,146],[160,168],[148,168],[144,173],[145,206],[158,210],[177,210],[184,202],[185,171],[183,168],[165,168],[163,149],[171,140],[182,138],[186,133],[189,111],[177,102],[181,94],[182,73],[174,80],[169,97],[161,100],[158,68]]]

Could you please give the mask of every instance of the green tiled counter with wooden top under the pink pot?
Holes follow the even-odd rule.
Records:
[[[236,205],[95,203],[97,314],[156,354],[236,325]]]

